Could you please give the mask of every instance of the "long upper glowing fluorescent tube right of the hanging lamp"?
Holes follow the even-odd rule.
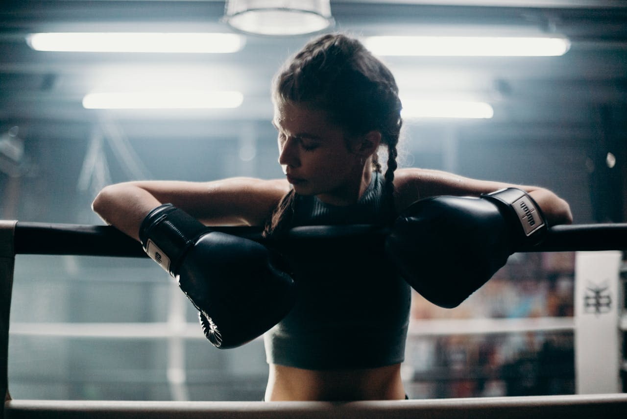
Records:
[[[566,38],[515,36],[371,36],[364,40],[375,55],[414,56],[558,56]]]

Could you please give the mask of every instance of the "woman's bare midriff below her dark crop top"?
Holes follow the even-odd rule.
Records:
[[[401,364],[360,369],[301,369],[270,364],[266,401],[403,400]]]

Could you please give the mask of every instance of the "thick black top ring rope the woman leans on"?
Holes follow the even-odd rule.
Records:
[[[212,227],[263,243],[261,228]],[[386,228],[372,225],[304,226],[290,230],[282,240],[382,240]],[[141,245],[112,226],[29,223],[19,221],[15,228],[15,253],[31,255],[83,255],[146,257]],[[549,229],[545,240],[520,252],[574,252],[577,250],[627,249],[627,223],[558,225]]]

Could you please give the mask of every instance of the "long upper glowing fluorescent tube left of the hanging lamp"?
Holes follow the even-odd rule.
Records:
[[[234,33],[49,32],[32,33],[28,45],[37,51],[233,53],[244,37]]]

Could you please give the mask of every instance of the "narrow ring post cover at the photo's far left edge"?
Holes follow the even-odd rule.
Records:
[[[8,384],[9,358],[9,314],[11,314],[11,291],[13,290],[13,265],[15,252],[13,234],[17,221],[0,220],[0,395],[3,396],[3,409],[0,419],[4,418],[4,402],[10,400]]]

